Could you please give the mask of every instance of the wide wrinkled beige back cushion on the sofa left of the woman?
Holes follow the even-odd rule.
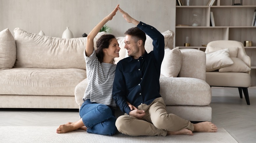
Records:
[[[98,33],[95,41],[104,32]],[[61,39],[32,34],[15,28],[17,68],[86,69],[83,52],[87,38]]]

